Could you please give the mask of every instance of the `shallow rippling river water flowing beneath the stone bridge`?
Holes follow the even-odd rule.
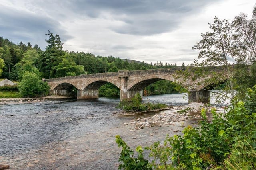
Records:
[[[186,105],[184,94],[148,96],[144,101]],[[120,135],[134,149],[181,134],[175,126],[135,130],[116,108],[119,98],[0,103],[0,164],[11,170],[118,169]],[[156,113],[157,114],[157,113]]]

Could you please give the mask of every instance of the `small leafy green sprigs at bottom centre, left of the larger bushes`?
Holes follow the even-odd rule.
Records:
[[[152,170],[150,164],[148,164],[148,160],[144,160],[143,149],[141,146],[136,148],[138,158],[134,158],[134,152],[130,150],[130,147],[128,147],[119,135],[116,135],[116,143],[118,144],[118,147],[122,147],[122,151],[118,159],[122,164],[119,165],[118,169]]]

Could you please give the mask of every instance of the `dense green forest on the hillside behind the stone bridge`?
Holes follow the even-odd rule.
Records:
[[[23,75],[26,72],[30,72],[33,74],[32,77],[38,79],[36,80],[38,82],[43,77],[56,78],[80,74],[117,72],[118,70],[146,70],[176,67],[175,63],[164,64],[161,61],[157,61],[155,64],[148,64],[145,62],[120,59],[111,55],[103,57],[99,55],[95,56],[92,53],[64,51],[59,35],[54,35],[48,31],[46,36],[48,36],[48,39],[46,39],[47,45],[44,51],[36,44],[32,47],[30,42],[27,45],[22,42],[14,44],[12,41],[0,37],[0,78],[22,82]],[[147,89],[148,94],[171,92],[167,89],[162,90],[162,87],[161,90],[156,89],[156,87],[160,87],[158,84],[163,84],[163,82],[156,82],[155,84],[153,85],[154,88],[149,87]],[[171,88],[170,86],[173,86],[173,84],[169,83],[167,88]],[[44,87],[44,89],[48,88]],[[24,91],[24,89],[20,89],[20,91]],[[118,88],[112,84],[106,84],[100,89],[101,96],[116,96],[119,93]],[[24,93],[23,96],[31,96],[31,94],[28,92],[28,94]]]

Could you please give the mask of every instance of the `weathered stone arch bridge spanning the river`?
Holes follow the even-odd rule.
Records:
[[[212,67],[215,71],[221,69]],[[80,76],[66,76],[61,78],[45,79],[50,86],[50,94],[52,95],[68,95],[68,89],[74,86],[77,88],[77,99],[93,99],[98,98],[98,89],[107,82],[114,84],[120,89],[120,100],[132,98],[135,94],[143,94],[143,89],[159,80],[170,80],[181,84],[188,89],[189,102],[210,102],[210,92],[203,88],[209,84],[200,84],[204,78],[195,80],[194,71],[190,69],[190,76],[184,79],[182,71],[187,67],[163,68],[154,70],[120,70],[118,72],[82,74]],[[210,75],[209,75],[210,76]]]

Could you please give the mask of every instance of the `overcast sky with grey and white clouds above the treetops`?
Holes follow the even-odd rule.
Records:
[[[0,0],[0,36],[44,50],[50,30],[64,50],[191,64],[215,16],[251,16],[255,0]]]

